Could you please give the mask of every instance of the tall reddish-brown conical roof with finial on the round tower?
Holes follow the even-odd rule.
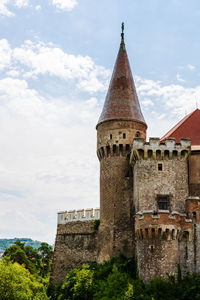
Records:
[[[123,29],[122,23],[121,44],[97,126],[110,120],[134,120],[146,124],[129,65]]]

